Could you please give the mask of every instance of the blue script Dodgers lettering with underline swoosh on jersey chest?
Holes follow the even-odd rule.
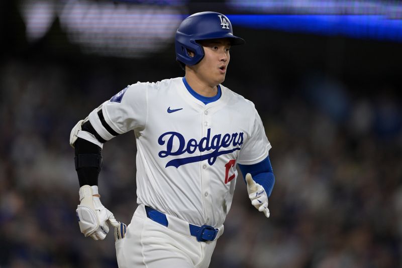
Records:
[[[178,144],[178,148],[175,151],[173,151],[173,142]],[[224,135],[217,134],[211,138],[211,129],[209,128],[207,131],[207,137],[203,137],[199,141],[195,139],[189,139],[186,142],[183,135],[174,131],[170,131],[160,135],[158,143],[159,145],[164,145],[166,143],[166,150],[160,151],[158,153],[159,157],[161,158],[167,157],[169,155],[181,155],[183,153],[192,154],[197,149],[199,152],[213,150],[212,152],[203,155],[170,160],[169,162],[167,162],[166,167],[174,166],[177,168],[180,165],[204,161],[207,159],[208,163],[210,165],[213,165],[218,156],[240,150],[243,144],[243,132],[233,133],[232,135],[229,133],[226,133]],[[233,147],[237,147],[220,151],[221,148],[228,148],[231,145]]]

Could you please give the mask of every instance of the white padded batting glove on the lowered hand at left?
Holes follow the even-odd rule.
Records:
[[[84,185],[79,189],[77,218],[81,233],[90,236],[93,240],[103,240],[109,232],[108,221],[118,227],[119,222],[107,208],[100,203],[97,186]]]

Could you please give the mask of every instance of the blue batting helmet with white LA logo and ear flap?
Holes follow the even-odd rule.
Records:
[[[232,24],[221,13],[199,12],[185,18],[176,31],[176,60],[186,65],[197,64],[204,58],[204,48],[197,41],[217,38],[230,38],[232,45],[245,43],[233,35]],[[188,50],[194,52],[193,57],[188,55]]]

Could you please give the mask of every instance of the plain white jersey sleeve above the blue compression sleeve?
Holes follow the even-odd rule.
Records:
[[[237,160],[239,164],[252,165],[261,162],[268,156],[269,149],[271,148],[261,118],[255,109],[249,133],[250,135],[239,153]]]

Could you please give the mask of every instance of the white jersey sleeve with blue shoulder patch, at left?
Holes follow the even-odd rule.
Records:
[[[100,109],[107,125],[118,134],[140,131],[145,128],[148,115],[147,83],[127,86],[103,103]]]

